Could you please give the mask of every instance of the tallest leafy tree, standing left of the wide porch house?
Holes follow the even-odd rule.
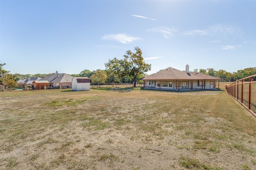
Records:
[[[139,47],[135,47],[136,51],[126,51],[126,54],[123,56],[124,59],[118,60],[116,58],[109,60],[108,63],[105,63],[106,68],[110,73],[118,75],[120,79],[128,76],[133,81],[133,86],[136,86],[136,82],[144,75],[145,72],[151,70],[151,64],[144,62],[142,57],[142,51]]]

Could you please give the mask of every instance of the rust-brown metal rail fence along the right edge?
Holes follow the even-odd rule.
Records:
[[[226,85],[226,91],[256,117],[256,74]]]

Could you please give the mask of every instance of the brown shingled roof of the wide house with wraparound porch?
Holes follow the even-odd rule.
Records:
[[[150,74],[143,78],[143,80],[221,80],[220,78],[202,74],[200,72],[189,72],[177,70],[168,67],[157,73]]]

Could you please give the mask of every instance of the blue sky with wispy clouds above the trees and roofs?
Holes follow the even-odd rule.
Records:
[[[79,74],[142,50],[152,74],[256,66],[256,1],[0,0],[0,63]]]

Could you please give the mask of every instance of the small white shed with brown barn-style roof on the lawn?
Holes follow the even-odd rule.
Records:
[[[90,90],[90,79],[88,77],[74,77],[72,79],[72,90],[74,91]]]

